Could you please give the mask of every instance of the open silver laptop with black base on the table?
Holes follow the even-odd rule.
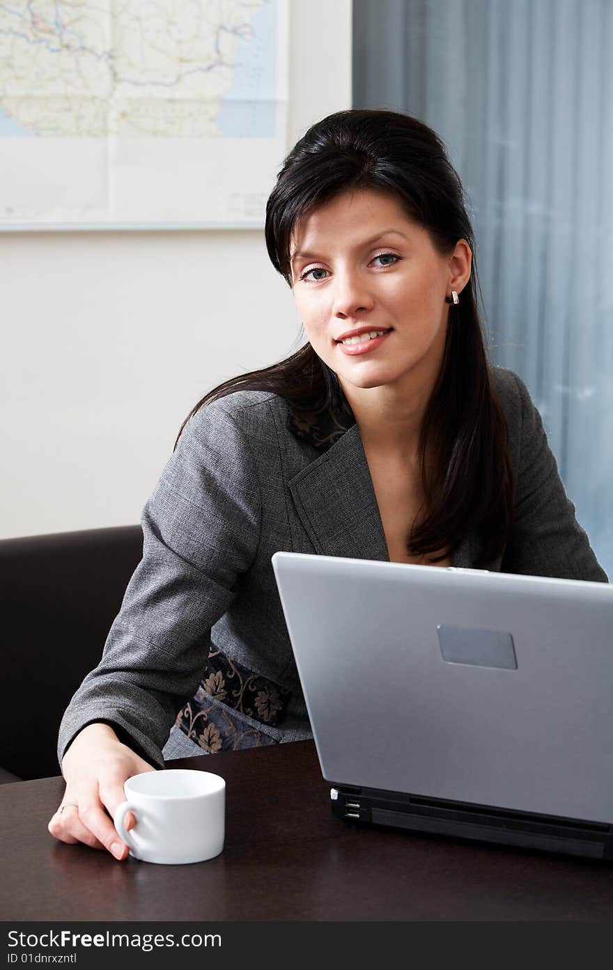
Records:
[[[335,815],[613,857],[613,587],[273,566]]]

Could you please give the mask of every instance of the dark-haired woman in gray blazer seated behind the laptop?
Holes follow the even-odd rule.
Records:
[[[606,582],[525,386],[487,363],[462,186],[435,133],[389,112],[314,125],[266,241],[308,343],[192,411],[60,729],[49,830],[117,858],[105,808],[162,766],[176,720],[180,753],[310,736],[276,550]]]

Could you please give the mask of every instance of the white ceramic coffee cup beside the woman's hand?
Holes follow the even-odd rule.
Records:
[[[144,862],[179,865],[204,862],[223,850],[226,783],[210,771],[167,768],[128,778],[126,801],[117,806],[113,824]],[[132,812],[130,831],[125,817]]]

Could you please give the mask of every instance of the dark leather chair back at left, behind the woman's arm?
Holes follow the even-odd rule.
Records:
[[[142,556],[140,526],[0,540],[0,783],[59,774],[62,715]]]

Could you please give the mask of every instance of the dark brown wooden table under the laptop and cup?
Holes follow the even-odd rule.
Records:
[[[152,865],[56,842],[61,778],[0,786],[4,921],[592,921],[613,866],[333,819],[312,742],[173,761],[226,779],[226,847]]]

